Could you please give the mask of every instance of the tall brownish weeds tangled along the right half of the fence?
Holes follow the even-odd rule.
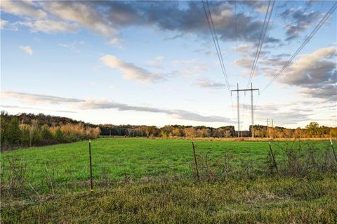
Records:
[[[275,144],[277,145],[277,143]],[[274,146],[275,146],[274,145]],[[262,163],[253,159],[239,159],[233,162],[233,157],[228,152],[222,159],[211,159],[209,154],[197,154],[197,164],[201,173],[201,180],[207,182],[223,180],[254,179],[258,176],[312,178],[323,173],[336,173],[337,162],[330,148],[319,149],[315,143],[294,143],[277,145],[279,149],[266,152]],[[279,155],[283,154],[283,157]]]

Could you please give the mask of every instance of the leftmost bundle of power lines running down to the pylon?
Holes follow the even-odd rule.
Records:
[[[207,1],[206,1],[206,4],[205,4],[204,1],[202,1],[202,6],[204,7],[206,20],[207,20],[207,23],[209,24],[209,29],[211,31],[211,36],[212,36],[212,39],[213,39],[214,46],[216,46],[216,53],[218,55],[221,70],[223,72],[223,77],[225,77],[226,86],[228,88],[228,91],[230,91],[230,84],[229,84],[229,81],[228,81],[227,72],[225,70],[225,65],[224,65],[224,62],[223,62],[223,54],[221,53],[221,49],[220,49],[220,45],[219,45],[219,41],[218,41],[218,35],[216,34],[216,29],[214,27],[212,14],[211,14],[211,11],[209,9],[209,4],[208,4]]]

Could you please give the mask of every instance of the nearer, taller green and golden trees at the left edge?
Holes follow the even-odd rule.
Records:
[[[44,114],[0,115],[1,150],[70,143],[98,138],[100,128],[67,118]]]

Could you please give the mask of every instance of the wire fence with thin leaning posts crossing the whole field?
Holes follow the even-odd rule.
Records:
[[[89,142],[74,150],[49,150],[25,159],[1,154],[0,178],[2,197],[31,197],[63,191],[93,190],[121,183],[149,180],[194,179],[197,181],[254,178],[254,176],[308,176],[310,173],[337,171],[333,144],[324,150],[315,143],[295,141],[260,143],[260,157],[254,154],[234,157],[230,150],[213,155],[198,142],[188,150],[158,152],[147,155],[147,145],[140,145],[137,157],[123,147],[114,152],[99,150]],[[37,149],[38,150],[38,149]],[[151,149],[153,150],[153,149]],[[125,157],[119,157],[124,152]],[[146,157],[147,164],[144,163]],[[151,158],[153,157],[153,158]],[[180,158],[181,157],[181,158]],[[142,159],[143,158],[143,159]],[[169,162],[167,162],[169,158]],[[92,163],[91,163],[92,162]]]

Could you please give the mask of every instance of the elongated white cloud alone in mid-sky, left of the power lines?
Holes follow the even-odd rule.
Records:
[[[124,79],[135,79],[137,81],[156,82],[164,80],[160,74],[149,72],[133,63],[124,62],[114,55],[105,55],[100,60],[108,67],[117,68],[123,74]]]

